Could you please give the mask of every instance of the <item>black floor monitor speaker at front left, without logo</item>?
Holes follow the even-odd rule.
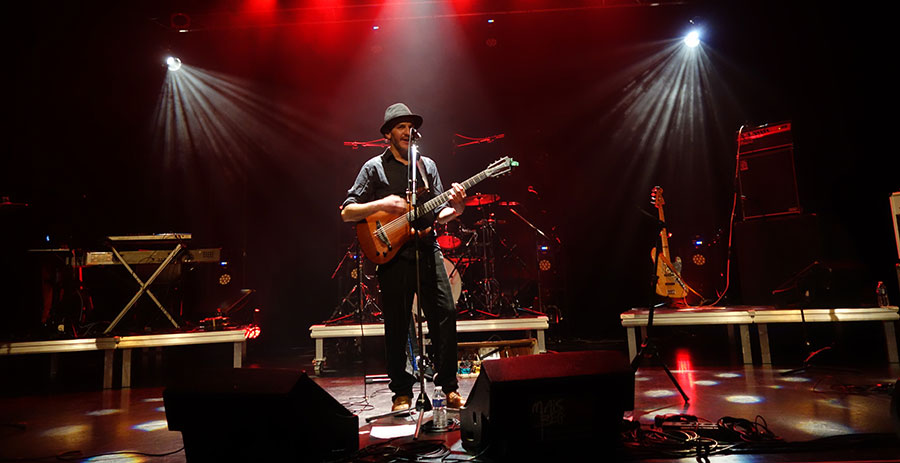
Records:
[[[306,373],[200,371],[163,391],[189,463],[330,461],[359,449],[359,420]]]

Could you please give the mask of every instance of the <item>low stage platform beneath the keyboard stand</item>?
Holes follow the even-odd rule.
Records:
[[[191,346],[199,344],[232,343],[233,366],[240,368],[246,355],[244,328],[221,331],[112,336],[103,338],[59,339],[0,343],[0,355],[50,354],[50,376],[56,375],[58,354],[67,352],[103,351],[103,388],[113,387],[115,352],[122,352],[121,387],[131,387],[131,350],[148,347]]]

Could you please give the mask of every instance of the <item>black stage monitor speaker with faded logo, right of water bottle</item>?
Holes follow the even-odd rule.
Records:
[[[462,445],[509,458],[604,452],[634,408],[634,372],[618,351],[485,360],[460,411]],[[599,454],[598,454],[599,456]]]

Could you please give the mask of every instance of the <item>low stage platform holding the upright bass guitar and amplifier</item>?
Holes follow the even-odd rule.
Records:
[[[834,323],[834,322],[883,322],[885,348],[891,364],[900,362],[897,356],[897,335],[894,325],[900,315],[897,306],[888,307],[851,307],[834,309],[781,309],[767,306],[734,306],[734,307],[690,307],[659,308],[654,310],[653,326],[699,326],[725,325],[729,330],[737,325],[740,329],[741,352],[746,365],[753,364],[753,351],[750,346],[750,325],[757,326],[760,346],[760,361],[763,365],[772,363],[769,347],[768,324],[772,323]],[[630,358],[637,355],[639,340],[637,329],[641,329],[641,339],[646,337],[646,327],[650,311],[646,308],[634,308],[620,315],[622,326],[628,336],[628,354]]]

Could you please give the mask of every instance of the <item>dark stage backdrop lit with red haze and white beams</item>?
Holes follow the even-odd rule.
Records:
[[[30,204],[0,212],[13,256],[5,311],[36,310],[27,286],[9,283],[37,278],[12,269],[23,259],[15,249],[187,231],[231,255],[246,248],[245,286],[259,291],[265,342],[308,344],[309,325],[347,289],[330,278],[353,240],[338,205],[379,153],[343,142],[378,138],[396,101],[424,115],[422,149],[445,184],[502,155],[521,161],[475,190],[522,203],[559,237],[558,304],[572,335],[620,337],[618,314],[647,304],[655,232],[640,209],[655,213],[654,185],[665,188],[673,249],[718,236],[711,252],[724,257],[734,137],[745,124],[793,121],[801,203],[827,224],[829,255],[862,275],[860,303],[874,302],[877,280],[898,298],[887,205],[900,189],[887,71],[895,40],[877,8],[539,12],[530,2],[530,13],[454,16],[449,2],[406,19],[357,20],[402,16],[384,7],[290,24],[281,13],[242,13],[241,2],[101,3],[18,6],[3,32],[11,54],[0,194]],[[524,9],[503,5],[494,11]],[[193,31],[173,30],[176,12]],[[666,54],[692,18],[705,27],[702,63]],[[166,134],[178,137],[156,118],[167,53],[215,76],[185,110],[203,108],[217,129],[194,127],[187,148],[169,151]],[[454,134],[500,133],[455,147]],[[466,214],[471,223],[477,211]],[[508,212],[498,218],[514,254],[532,262],[530,232]],[[737,279],[728,303],[740,302]]]

